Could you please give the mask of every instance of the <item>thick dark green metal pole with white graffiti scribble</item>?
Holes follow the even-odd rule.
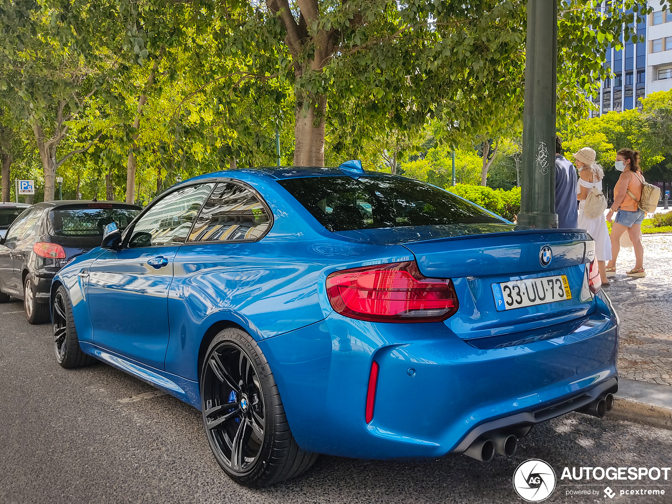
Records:
[[[521,205],[517,223],[557,228],[555,120],[558,2],[528,0]]]

